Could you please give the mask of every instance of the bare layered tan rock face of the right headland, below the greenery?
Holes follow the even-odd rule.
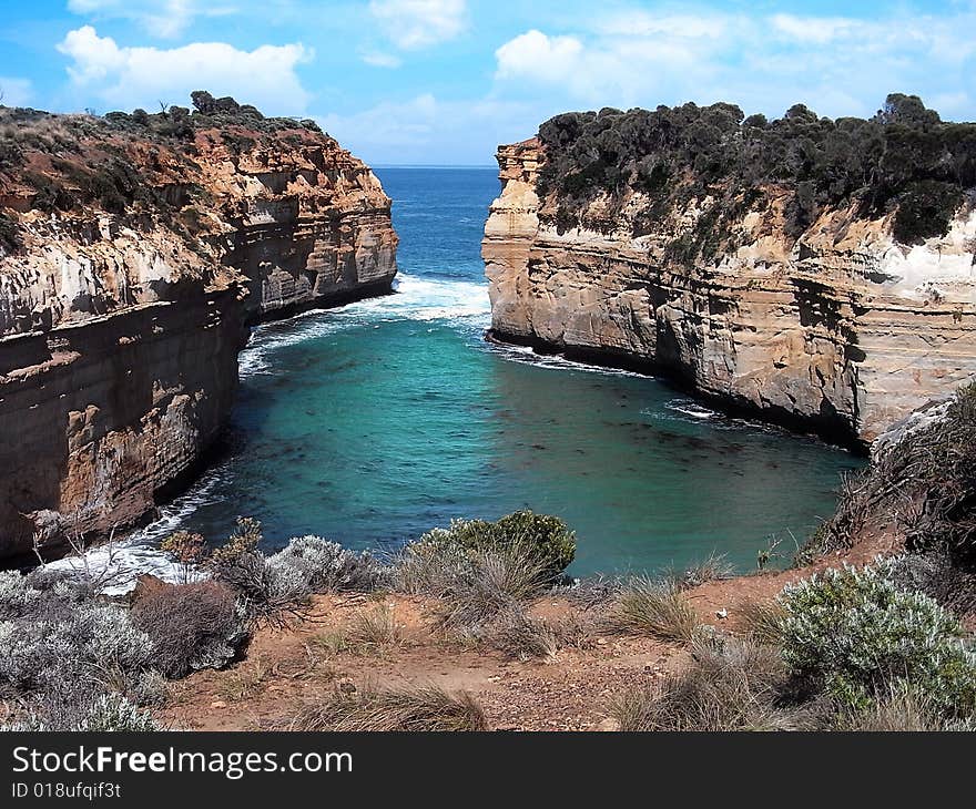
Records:
[[[492,332],[547,350],[664,370],[699,393],[802,429],[870,443],[976,375],[976,212],[947,235],[896,244],[886,218],[825,211],[799,239],[782,206],[746,211],[734,253],[674,260],[706,207],[634,236],[631,190],[609,228],[596,199],[576,227],[540,201],[538,140],[498,151],[501,195],[482,256]]]

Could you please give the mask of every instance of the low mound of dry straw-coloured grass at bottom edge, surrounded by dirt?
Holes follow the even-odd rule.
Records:
[[[467,692],[451,693],[435,685],[397,690],[346,692],[307,703],[292,720],[291,730],[487,730],[485,711]]]

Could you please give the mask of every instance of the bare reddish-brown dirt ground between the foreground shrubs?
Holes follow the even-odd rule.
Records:
[[[714,581],[687,596],[703,622],[734,632],[743,604],[769,601],[789,582],[844,561],[864,564],[894,545],[887,535],[867,537],[810,567]],[[396,641],[343,643],[364,615],[379,611],[392,611]],[[565,597],[541,598],[531,612],[549,621],[588,618]],[[305,700],[336,688],[435,684],[474,694],[495,730],[612,730],[607,708],[614,695],[673,670],[684,654],[674,644],[590,628],[555,656],[521,662],[446,639],[436,615],[435,601],[415,596],[315,596],[306,619],[260,629],[232,667],[172,684],[161,718],[196,730],[285,729]]]

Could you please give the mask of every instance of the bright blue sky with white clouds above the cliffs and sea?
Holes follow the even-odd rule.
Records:
[[[2,0],[0,93],[55,112],[197,89],[315,119],[367,162],[490,165],[568,110],[728,101],[976,120],[976,0]]]

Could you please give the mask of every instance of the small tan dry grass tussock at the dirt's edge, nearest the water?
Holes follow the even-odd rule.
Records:
[[[627,582],[608,617],[618,632],[677,643],[691,643],[699,627],[698,616],[678,585],[648,577]]]

